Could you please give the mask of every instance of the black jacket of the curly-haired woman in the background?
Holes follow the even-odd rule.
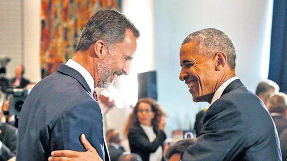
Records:
[[[154,153],[159,146],[163,146],[166,139],[166,135],[162,130],[154,129],[154,132],[156,138],[150,143],[148,136],[139,125],[131,128],[128,133],[131,153],[138,154],[143,161],[149,161],[149,155]]]

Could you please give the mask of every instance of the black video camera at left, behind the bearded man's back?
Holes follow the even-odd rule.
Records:
[[[28,90],[20,88],[7,89],[7,95],[10,98],[9,115],[18,116],[28,96]]]

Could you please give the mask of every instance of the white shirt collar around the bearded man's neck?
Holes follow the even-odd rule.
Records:
[[[94,78],[92,77],[92,75],[87,71],[87,69],[85,69],[81,64],[79,64],[78,62],[69,59],[66,63],[67,66],[75,69],[76,71],[78,71],[85,79],[85,81],[87,82],[88,86],[91,89],[91,94],[94,92],[94,88],[95,88],[95,84],[94,84]]]

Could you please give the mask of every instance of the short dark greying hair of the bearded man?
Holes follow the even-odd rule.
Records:
[[[87,50],[98,40],[103,40],[108,47],[120,43],[125,38],[126,29],[131,29],[135,37],[139,37],[138,29],[125,15],[113,9],[100,9],[83,28],[76,52]]]

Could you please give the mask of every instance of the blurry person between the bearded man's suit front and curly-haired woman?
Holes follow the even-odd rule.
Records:
[[[120,135],[114,130],[108,130],[106,133],[106,140],[111,161],[117,161],[118,158],[125,152],[124,148],[120,146]]]

